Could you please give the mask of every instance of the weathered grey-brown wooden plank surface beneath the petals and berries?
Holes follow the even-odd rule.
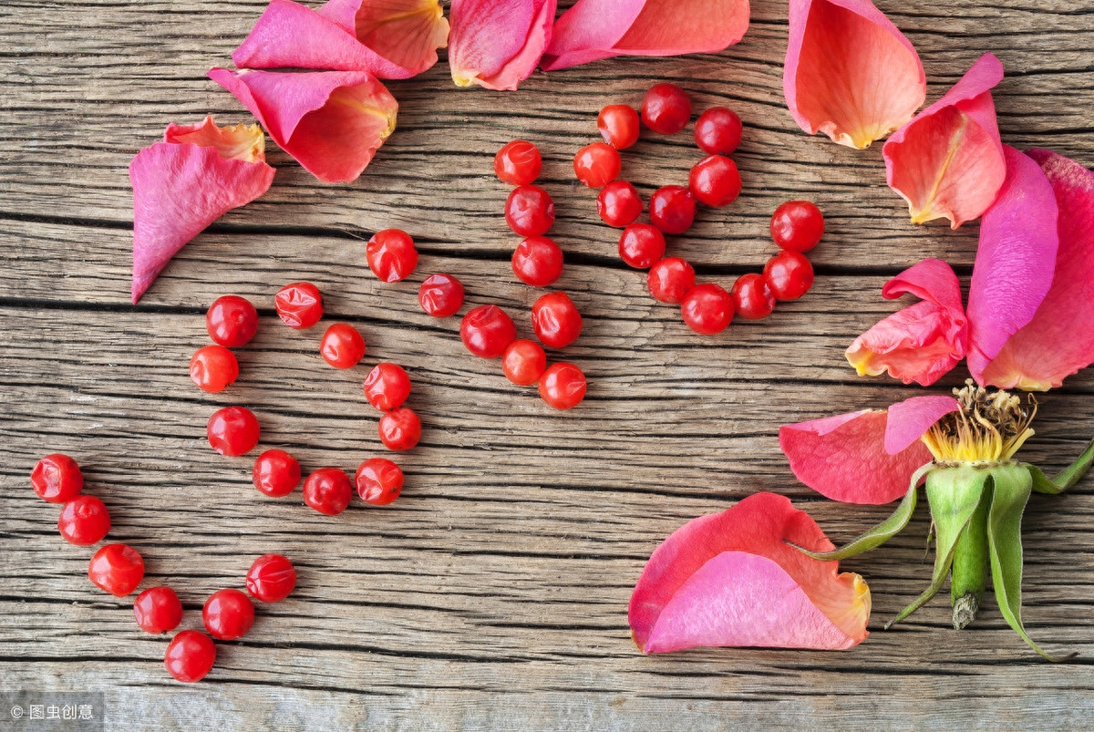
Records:
[[[880,0],[917,46],[929,100],[982,53],[1008,75],[996,91],[1005,142],[1047,147],[1094,165],[1094,10],[1082,0],[990,5]],[[778,427],[923,393],[858,379],[842,351],[899,306],[882,283],[924,256],[967,276],[977,225],[913,226],[885,186],[880,146],[865,152],[810,138],[781,92],[785,3],[757,0],[740,45],[711,56],[615,59],[537,73],[517,93],[452,85],[442,62],[389,86],[396,133],[351,185],[324,186],[271,149],[270,191],[187,245],[139,306],[129,304],[131,198],[126,166],[168,121],[249,116],[205,78],[226,65],[264,2],[116,3],[5,0],[0,7],[0,690],[105,692],[107,729],[1090,729],[1094,721],[1094,483],[1035,496],[1026,514],[1026,625],[1054,665],[1006,627],[993,600],[963,632],[939,597],[881,626],[928,583],[928,520],[845,562],[870,582],[874,634],[841,653],[693,650],[643,657],[627,602],[650,551],[694,516],[768,489],[807,509],[837,542],[888,509],[848,507],[798,484]],[[651,300],[616,256],[614,230],[570,161],[596,139],[604,104],[637,104],[654,81],[725,104],[745,120],[735,155],[744,194],[706,210],[672,249],[700,277],[730,283],[772,253],[766,229],[790,198],[815,200],[828,230],[802,300],[769,318],[698,337]],[[572,413],[509,384],[469,356],[458,318],[418,307],[421,279],[463,279],[468,305],[496,302],[531,328],[539,291],[516,282],[492,155],[524,138],[545,154],[544,185],[566,251],[558,288],[584,315],[565,357],[585,370]],[[643,195],[682,183],[698,160],[686,135],[643,139],[625,174]],[[375,230],[411,232],[415,275],[381,284],[364,264]],[[326,367],[321,329],[292,332],[276,290],[311,280],[328,321],[369,342],[361,365]],[[242,376],[220,395],[186,364],[208,342],[203,311],[237,293],[259,305]],[[465,305],[466,310],[467,305]],[[337,518],[296,492],[251,487],[254,457],[205,441],[218,406],[261,420],[264,444],[305,469],[352,470],[386,454],[361,395],[372,364],[404,364],[421,444],[398,460],[403,497]],[[959,384],[953,372],[931,393]],[[1040,398],[1023,455],[1058,468],[1094,434],[1094,371]],[[296,562],[298,591],[261,606],[241,642],[220,643],[202,683],[174,683],[166,638],[137,628],[131,597],[93,588],[90,550],[62,542],[56,507],[28,473],[47,452],[80,461],[88,492],[108,504],[113,541],[139,548],[148,581],[174,586],[184,627],[252,559]],[[0,710],[0,729],[33,730]],[[20,725],[21,724],[21,725]],[[10,727],[9,727],[10,725]]]

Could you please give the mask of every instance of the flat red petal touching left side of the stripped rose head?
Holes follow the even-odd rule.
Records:
[[[887,453],[887,413],[864,410],[787,425],[779,429],[779,446],[798,479],[818,493],[845,503],[888,503],[908,492],[931,453],[922,442]]]

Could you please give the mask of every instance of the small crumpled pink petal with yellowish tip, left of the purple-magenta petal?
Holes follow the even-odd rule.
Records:
[[[882,288],[888,300],[905,293],[922,298],[893,313],[854,339],[847,360],[859,375],[888,371],[905,384],[933,384],[953,369],[968,347],[968,322],[961,282],[941,259],[923,259]]]

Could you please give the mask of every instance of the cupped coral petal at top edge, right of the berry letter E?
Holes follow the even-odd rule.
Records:
[[[927,78],[870,0],[790,0],[782,89],[799,127],[861,149],[911,119]]]

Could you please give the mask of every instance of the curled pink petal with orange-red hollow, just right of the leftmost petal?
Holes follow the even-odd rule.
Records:
[[[228,71],[232,92],[282,150],[324,183],[356,179],[395,129],[398,103],[364,71]]]

